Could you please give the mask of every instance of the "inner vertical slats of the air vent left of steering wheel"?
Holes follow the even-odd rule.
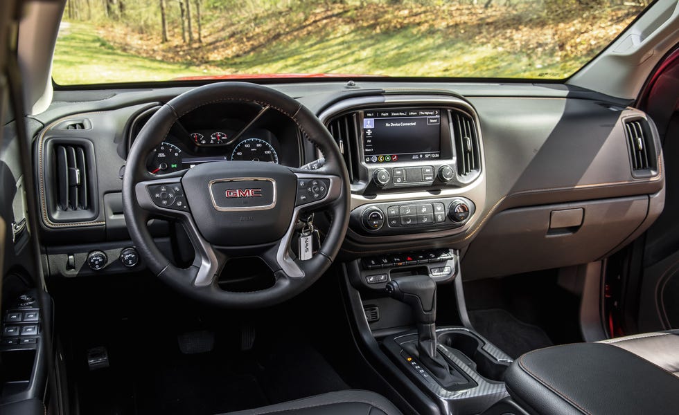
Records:
[[[89,192],[87,158],[79,145],[54,147],[57,205],[60,210],[87,210]]]

